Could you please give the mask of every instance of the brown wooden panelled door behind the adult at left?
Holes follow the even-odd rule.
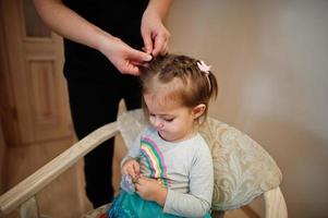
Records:
[[[0,20],[0,106],[8,144],[72,136],[61,37],[45,26],[32,0],[1,0]]]

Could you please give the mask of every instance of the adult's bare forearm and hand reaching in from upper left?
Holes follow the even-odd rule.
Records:
[[[57,34],[104,53],[122,73],[137,74],[138,64],[151,57],[100,29],[69,9],[61,0],[34,0],[44,22]]]

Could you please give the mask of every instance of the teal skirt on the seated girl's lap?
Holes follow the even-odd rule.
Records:
[[[145,201],[135,193],[122,191],[107,210],[106,217],[110,218],[173,218],[175,215],[166,214],[156,202]],[[210,218],[207,214],[206,218]]]

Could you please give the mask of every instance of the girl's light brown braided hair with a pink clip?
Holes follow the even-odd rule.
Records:
[[[206,106],[203,117],[207,116],[209,100],[217,97],[218,85],[215,75],[208,70],[202,71],[199,60],[187,56],[166,55],[154,58],[141,68],[143,94],[158,94],[166,87],[165,96],[178,100],[183,107]],[[146,109],[147,113],[147,108]]]

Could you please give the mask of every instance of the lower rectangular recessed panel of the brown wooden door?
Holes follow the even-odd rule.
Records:
[[[58,80],[54,58],[28,57],[26,61],[26,86],[34,129],[33,142],[70,136],[68,110],[62,97],[63,81]],[[23,130],[22,130],[23,131]],[[22,133],[24,134],[24,133]],[[28,137],[28,136],[26,136]],[[25,137],[25,138],[26,138]]]

